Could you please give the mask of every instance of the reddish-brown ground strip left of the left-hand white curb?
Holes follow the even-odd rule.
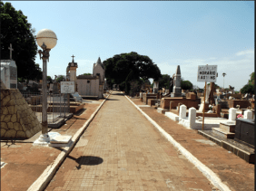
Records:
[[[91,101],[91,100],[88,100]],[[62,135],[71,135],[80,129],[94,113],[103,100],[86,102],[84,112],[66,121],[60,129],[49,129]],[[93,104],[91,104],[93,103]],[[39,132],[34,137],[39,137]],[[30,138],[34,139],[34,138]],[[25,191],[50,166],[61,150],[52,147],[33,146],[29,141],[1,141],[1,161],[6,165],[1,168],[1,190]]]

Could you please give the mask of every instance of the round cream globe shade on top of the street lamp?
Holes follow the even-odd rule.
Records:
[[[42,47],[43,43],[46,49],[53,49],[57,43],[56,34],[50,29],[42,29],[36,35],[36,43]]]

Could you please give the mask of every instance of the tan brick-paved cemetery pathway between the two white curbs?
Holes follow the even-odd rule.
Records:
[[[212,187],[122,93],[113,91],[45,190],[211,191]]]

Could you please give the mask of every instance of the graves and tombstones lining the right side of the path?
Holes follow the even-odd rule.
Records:
[[[179,65],[170,84],[169,90],[159,90],[158,82],[154,82],[153,90],[140,92],[140,100],[186,129],[198,130],[204,137],[254,163],[254,95],[236,94],[231,86],[224,92],[215,89],[214,82],[205,86],[205,98],[200,91],[182,91]]]

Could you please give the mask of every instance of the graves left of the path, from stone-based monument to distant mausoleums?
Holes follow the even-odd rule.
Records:
[[[12,44],[9,49],[10,59],[1,60],[1,139],[25,140],[33,138],[42,131],[43,82],[17,82],[17,67],[12,59],[12,51],[14,51]],[[71,79],[61,81],[61,83],[55,81],[56,78],[53,83],[47,81],[46,110],[49,128],[59,128],[66,119],[73,116],[73,113],[79,115],[79,111],[85,110],[85,103],[77,92],[78,90],[85,90],[89,94],[96,92],[97,96],[103,94],[101,91],[104,83],[103,64],[100,58],[97,63],[94,63],[94,74],[88,78],[82,78],[82,83],[79,83],[79,78],[76,77],[76,68],[77,63],[73,59],[73,62],[70,62],[67,67],[67,74]],[[51,141],[54,140],[53,136],[59,135],[50,135]]]

